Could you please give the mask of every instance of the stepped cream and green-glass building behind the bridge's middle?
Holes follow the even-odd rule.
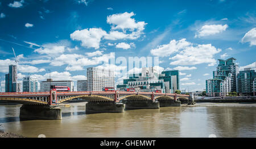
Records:
[[[130,74],[123,80],[123,85],[117,85],[117,90],[134,88],[137,92],[174,93],[179,89],[179,71],[163,71],[159,74],[156,68],[142,68],[141,73]]]

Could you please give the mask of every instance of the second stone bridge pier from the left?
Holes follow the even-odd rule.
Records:
[[[94,113],[123,113],[125,105],[116,102],[88,102],[85,105],[85,114]]]

